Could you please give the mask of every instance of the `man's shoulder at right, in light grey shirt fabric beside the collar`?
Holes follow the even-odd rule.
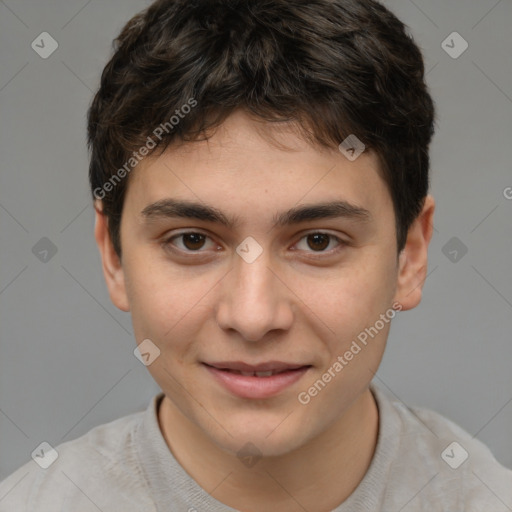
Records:
[[[391,485],[403,482],[406,492],[418,493],[415,498],[411,494],[410,508],[404,512],[423,510],[414,508],[414,502],[422,499],[441,505],[441,497],[448,500],[442,510],[450,506],[466,512],[512,509],[512,470],[501,465],[484,443],[433,410],[408,407],[380,390],[377,393],[400,429]]]

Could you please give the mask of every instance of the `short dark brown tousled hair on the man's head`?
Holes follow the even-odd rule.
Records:
[[[158,0],[124,26],[114,50],[88,112],[88,146],[91,190],[119,256],[134,152],[207,138],[240,108],[295,122],[311,143],[336,147],[354,134],[375,151],[402,250],[428,193],[435,109],[421,51],[383,5]]]

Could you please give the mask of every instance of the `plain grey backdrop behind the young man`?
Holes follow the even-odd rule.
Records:
[[[437,210],[423,301],[394,321],[376,381],[460,424],[512,467],[512,2],[385,4],[429,70]],[[42,441],[74,439],[159,391],[133,356],[130,317],[106,292],[85,146],[111,41],[146,5],[0,1],[0,480]],[[31,48],[43,31],[59,44],[48,59]],[[441,46],[453,31],[469,43],[457,59]],[[57,248],[46,263],[32,252],[42,237]],[[455,262],[452,237],[468,250],[461,257],[454,246]]]

